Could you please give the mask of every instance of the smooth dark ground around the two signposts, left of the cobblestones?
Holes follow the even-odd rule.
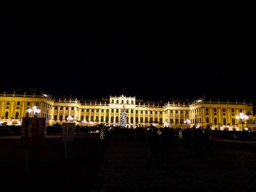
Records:
[[[91,191],[107,148],[99,134],[78,134],[68,158],[61,137],[48,136],[43,150],[28,153],[28,174],[19,138],[0,137],[0,191]]]

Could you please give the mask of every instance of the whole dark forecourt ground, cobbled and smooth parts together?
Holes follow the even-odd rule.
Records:
[[[78,134],[67,145],[48,136],[45,148],[26,153],[19,137],[0,137],[0,191],[255,191],[256,142],[216,139],[213,153],[197,153],[174,139],[170,159],[152,159],[147,142]],[[206,151],[205,151],[206,152]]]

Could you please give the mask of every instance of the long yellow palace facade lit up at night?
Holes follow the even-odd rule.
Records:
[[[53,98],[37,91],[0,93],[0,122],[20,125],[23,117],[33,116],[28,110],[34,106],[41,110],[38,117],[48,118],[49,125],[67,122],[67,118],[71,116],[73,122],[80,126],[96,126],[99,123],[118,126],[123,107],[126,110],[128,127],[134,128],[151,124],[157,127],[206,128],[207,124],[211,124],[213,129],[238,131],[250,127],[255,129],[256,123],[252,103],[245,101],[206,101],[202,98],[164,103],[143,101],[135,99],[135,96],[78,100],[72,97]],[[236,118],[241,112],[248,115],[248,120]],[[186,120],[190,123],[185,123]]]

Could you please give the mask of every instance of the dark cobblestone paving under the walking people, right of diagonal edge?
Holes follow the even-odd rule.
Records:
[[[214,153],[197,155],[175,140],[170,159],[152,161],[138,141],[110,142],[92,191],[255,191],[256,142],[214,142]]]

